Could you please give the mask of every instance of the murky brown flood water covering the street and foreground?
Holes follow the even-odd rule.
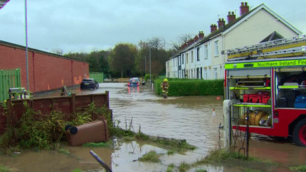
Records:
[[[26,151],[16,156],[0,156],[0,164],[16,171],[103,171],[101,165],[89,154],[93,150],[113,171],[166,171],[169,164],[192,163],[205,157],[208,151],[222,145],[223,100],[219,96],[185,96],[162,98],[145,86],[128,88],[123,83],[103,83],[94,91],[77,93],[104,93],[109,91],[110,108],[113,120],[123,129],[139,130],[152,136],[186,139],[196,146],[195,151],[186,154],[164,155],[161,163],[135,161],[147,152],[154,150],[166,154],[166,150],[146,142],[118,142],[115,148],[69,147],[71,155],[57,151]],[[213,113],[213,110],[214,113]],[[215,114],[215,115],[214,115]],[[297,147],[288,139],[274,140],[252,134],[249,143],[249,156],[270,159],[281,166],[299,166],[306,163],[306,148]],[[203,166],[208,171],[235,171],[227,166]],[[237,169],[236,169],[237,170]],[[279,171],[280,169],[275,169]],[[196,171],[196,168],[191,169]],[[273,171],[273,170],[269,170]]]

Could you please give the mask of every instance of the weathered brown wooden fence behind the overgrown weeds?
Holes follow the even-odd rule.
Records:
[[[42,115],[49,115],[52,111],[60,111],[64,114],[78,113],[89,108],[94,102],[97,108],[106,105],[109,108],[109,93],[85,94],[71,96],[58,96],[47,98],[18,99],[6,101],[6,105],[0,105],[0,134],[6,131],[7,122],[18,122],[26,112],[23,102],[27,101],[28,106],[35,111],[40,111]],[[6,106],[6,109],[4,109]],[[11,120],[7,120],[10,117]]]

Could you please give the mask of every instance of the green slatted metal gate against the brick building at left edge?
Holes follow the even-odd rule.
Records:
[[[0,102],[8,99],[9,88],[21,87],[21,69],[0,69]]]

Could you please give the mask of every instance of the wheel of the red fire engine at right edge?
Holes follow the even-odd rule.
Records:
[[[306,147],[306,119],[297,122],[297,125],[295,125],[293,141],[297,146]]]

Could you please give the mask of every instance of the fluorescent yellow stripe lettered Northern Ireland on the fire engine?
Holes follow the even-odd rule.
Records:
[[[225,64],[225,69],[246,69],[261,67],[294,67],[306,65],[306,59],[278,60],[266,62],[230,63]]]

